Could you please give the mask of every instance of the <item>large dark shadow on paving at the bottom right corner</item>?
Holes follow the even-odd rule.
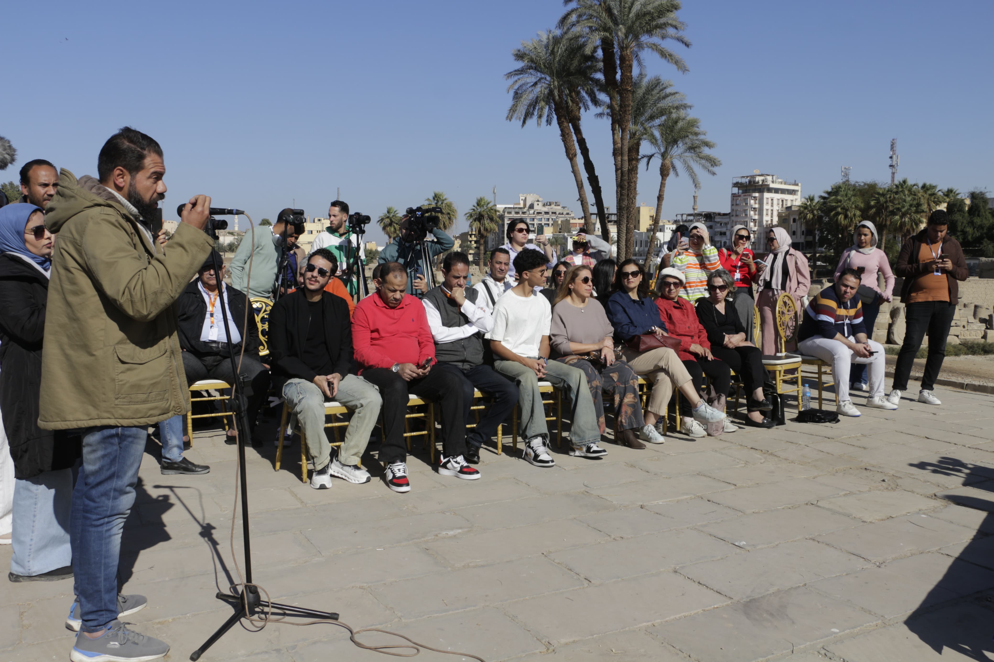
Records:
[[[964,463],[955,458],[940,458],[937,463],[921,462],[910,466],[940,475],[961,477],[964,485],[992,492],[994,497],[994,480],[991,480],[994,478],[994,468]],[[990,536],[984,533],[994,531],[994,500],[966,494],[948,494],[943,498],[987,514],[977,534],[967,543],[938,584],[911,612],[905,624],[939,655],[943,648],[949,648],[970,659],[989,662],[991,657],[985,653],[994,654],[994,642],[991,640],[994,635],[994,612],[990,610],[994,602],[988,604],[990,597],[981,598],[984,601],[964,601],[958,596],[974,593],[971,587],[975,586],[977,575],[987,574],[994,569]],[[983,586],[983,589],[987,588],[989,587]],[[953,614],[951,609],[941,606],[943,602],[953,599],[965,603],[966,608]]]

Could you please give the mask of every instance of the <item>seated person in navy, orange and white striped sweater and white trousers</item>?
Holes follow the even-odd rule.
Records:
[[[856,292],[860,274],[846,268],[835,285],[825,288],[808,304],[804,322],[798,331],[802,353],[817,356],[832,364],[838,396],[836,411],[843,416],[860,416],[860,410],[849,398],[849,371],[852,363],[865,363],[870,372],[870,394],[867,407],[897,409],[898,405],[884,397],[884,370],[887,357],[884,346],[867,335],[863,306]]]

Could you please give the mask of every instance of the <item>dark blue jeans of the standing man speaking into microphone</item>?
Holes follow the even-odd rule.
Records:
[[[83,632],[99,632],[117,618],[121,531],[134,505],[147,438],[144,426],[83,431],[83,468],[73,491],[70,523]]]

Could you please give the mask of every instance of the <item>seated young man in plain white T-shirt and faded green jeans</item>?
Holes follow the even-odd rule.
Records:
[[[548,360],[552,307],[545,297],[535,294],[535,288],[546,282],[545,260],[544,253],[534,250],[523,250],[514,259],[518,284],[497,301],[494,326],[486,337],[494,352],[494,367],[518,384],[525,460],[536,466],[555,466],[549,453],[549,428],[539,391],[540,380],[565,391],[563,406],[569,408],[568,416],[573,422],[570,455],[600,458],[607,452],[597,446],[600,430],[583,371]]]

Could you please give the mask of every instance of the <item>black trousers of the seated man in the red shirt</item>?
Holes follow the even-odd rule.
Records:
[[[404,417],[408,413],[408,396],[416,395],[435,403],[441,410],[442,455],[446,458],[466,452],[466,420],[462,379],[435,363],[426,377],[405,381],[390,368],[366,368],[366,381],[380,389],[383,398],[383,445],[381,463],[403,463],[408,457],[404,441]]]

